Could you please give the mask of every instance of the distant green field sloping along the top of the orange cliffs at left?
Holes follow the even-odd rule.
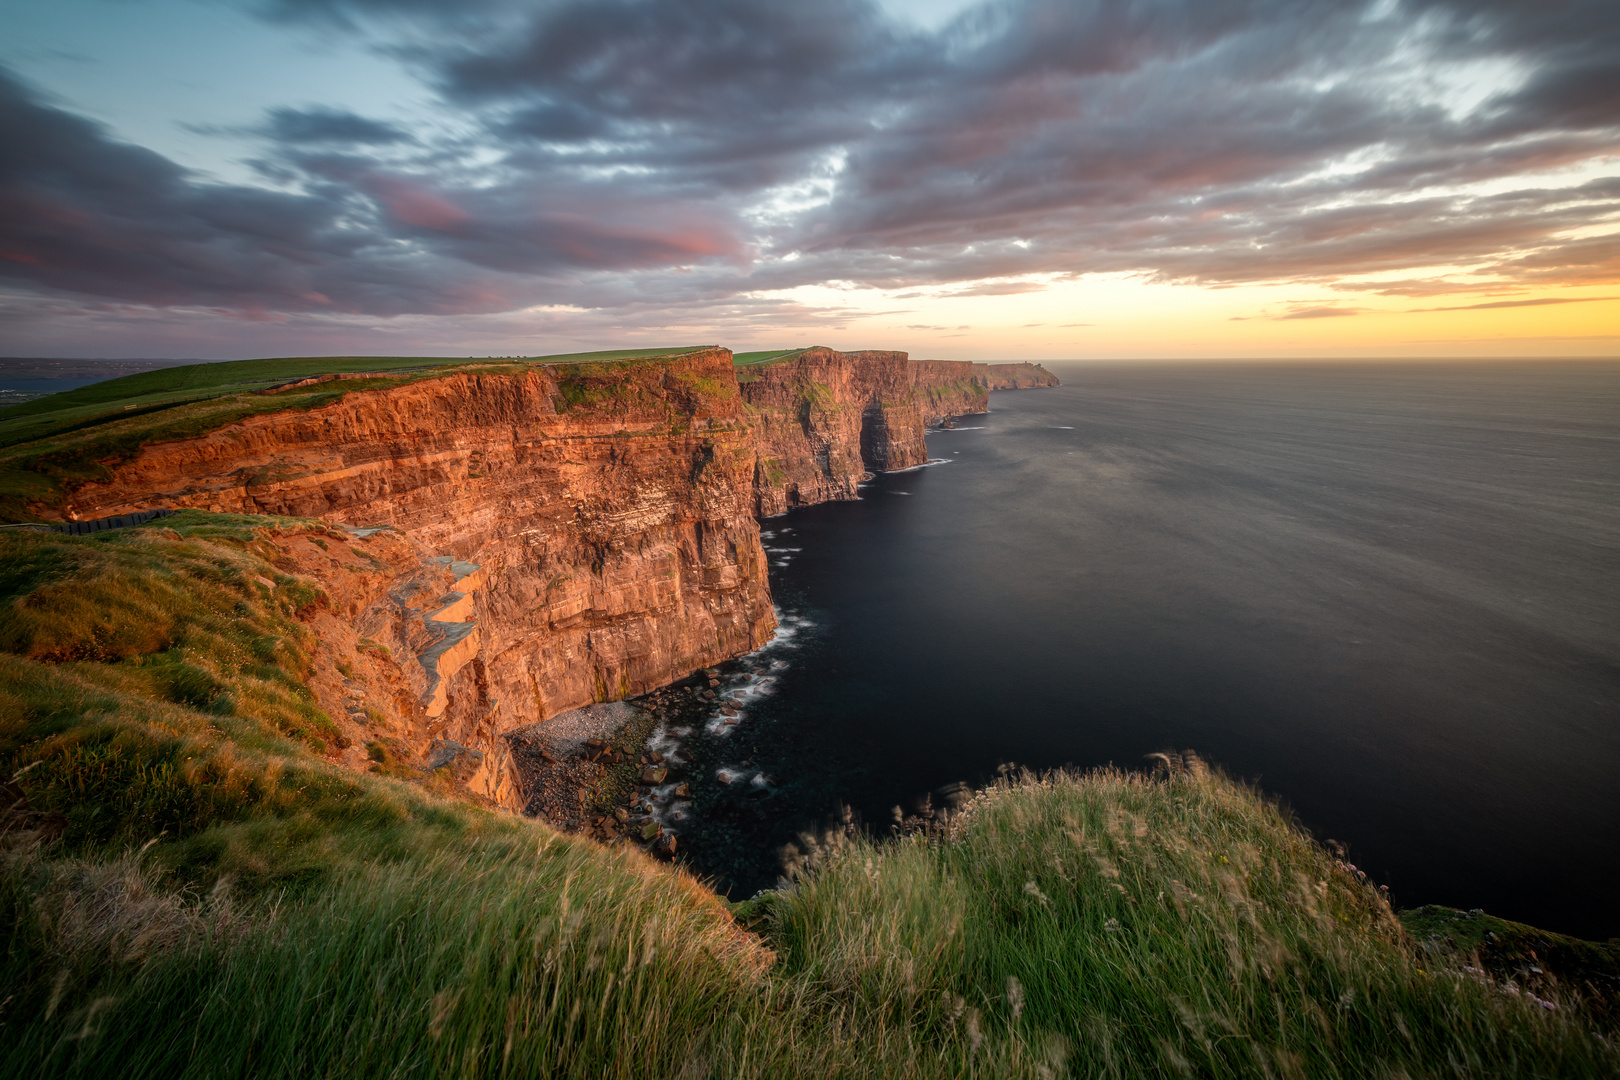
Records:
[[[188,364],[107,379],[0,410],[0,520],[37,520],[66,491],[105,474],[107,461],[143,445],[199,436],[259,413],[311,410],[355,390],[399,385],[457,368],[520,371],[526,364],[590,366],[667,356],[698,347],[603,350],[554,356],[457,359],[447,356],[292,356]],[[377,372],[277,395],[258,390],[321,374]]]

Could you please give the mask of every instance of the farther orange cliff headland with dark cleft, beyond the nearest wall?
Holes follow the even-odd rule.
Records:
[[[855,484],[867,473],[925,463],[928,424],[988,408],[985,381],[974,368],[829,348],[745,368],[739,384],[742,398],[757,410],[758,512],[855,499]]]

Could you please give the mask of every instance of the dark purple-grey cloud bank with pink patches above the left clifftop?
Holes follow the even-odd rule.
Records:
[[[358,117],[308,120],[272,130],[292,126],[287,142],[379,141]],[[536,209],[510,186],[444,191],[353,154],[280,159],[308,181],[303,193],[207,183],[39,102],[3,71],[0,144],[0,277],[63,293],[249,317],[465,314],[535,303],[536,288],[514,275],[735,254],[711,219],[614,214],[586,189]]]

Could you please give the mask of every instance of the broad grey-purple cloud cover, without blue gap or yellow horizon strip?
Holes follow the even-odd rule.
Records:
[[[867,0],[259,10],[381,40],[462,134],[277,108],[274,189],[209,185],[5,83],[13,279],[646,317],[770,311],[747,295],[802,283],[1045,287],[1009,280],[1029,274],[1413,296],[1477,288],[1437,266],[1620,280],[1615,238],[1586,235],[1620,181],[1533,175],[1620,152],[1610,0],[1008,0],[936,32]],[[1403,277],[1343,282],[1369,274]]]

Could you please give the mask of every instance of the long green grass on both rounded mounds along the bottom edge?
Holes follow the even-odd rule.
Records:
[[[752,905],[763,942],[637,852],[510,819],[350,863],[279,910],[211,915],[222,889],[199,892],[159,920],[165,947],[125,931],[94,970],[18,918],[0,1072],[1617,1070],[1583,1014],[1427,970],[1371,886],[1217,776],[1024,777],[933,837],[831,837],[808,863]],[[23,878],[3,899],[31,916]]]

